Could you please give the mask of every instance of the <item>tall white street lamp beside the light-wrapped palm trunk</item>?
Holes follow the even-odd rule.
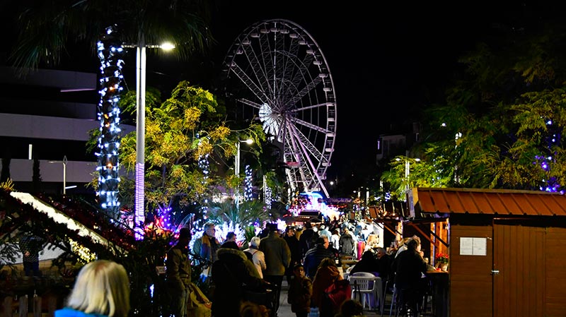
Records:
[[[146,48],[164,49],[166,51],[175,48],[171,43],[161,45],[147,45],[142,37],[137,45],[122,45],[123,47],[136,47],[136,190],[134,227],[145,222],[144,198],[145,198],[145,143],[146,143]]]

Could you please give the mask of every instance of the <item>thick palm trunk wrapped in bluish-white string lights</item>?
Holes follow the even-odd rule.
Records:
[[[118,150],[120,149],[120,94],[122,65],[124,53],[122,44],[115,37],[115,27],[106,28],[105,34],[97,43],[100,59],[100,102],[98,103],[98,120],[100,136],[98,138],[98,198],[100,206],[109,213],[117,213],[120,209],[118,201]]]

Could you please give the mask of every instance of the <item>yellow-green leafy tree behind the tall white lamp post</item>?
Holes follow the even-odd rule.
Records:
[[[125,112],[134,112],[135,92],[123,99]],[[233,131],[224,121],[224,107],[211,92],[180,82],[164,102],[156,92],[148,92],[146,102],[146,203],[147,210],[165,210],[173,203],[181,206],[209,196],[217,184],[236,184],[234,176],[221,177],[229,158],[236,153],[236,140],[245,135],[255,142],[265,140],[261,126]],[[210,171],[198,167],[208,157]],[[122,138],[120,162],[128,172],[136,162],[135,132]],[[122,182],[121,193],[133,193],[133,181]],[[125,188],[130,187],[130,188]]]

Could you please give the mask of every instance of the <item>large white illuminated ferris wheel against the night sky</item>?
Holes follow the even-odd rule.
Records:
[[[259,120],[282,145],[293,191],[323,191],[336,136],[334,83],[323,52],[301,26],[264,20],[244,30],[224,61],[238,115]]]

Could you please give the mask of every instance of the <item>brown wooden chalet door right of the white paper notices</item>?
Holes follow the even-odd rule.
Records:
[[[545,229],[493,225],[493,316],[543,316]]]

